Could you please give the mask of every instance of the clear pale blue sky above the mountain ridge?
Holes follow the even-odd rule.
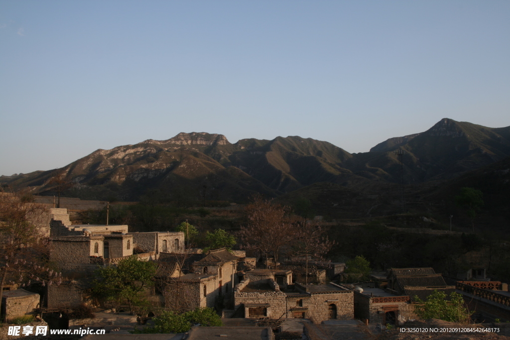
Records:
[[[180,132],[510,125],[510,1],[0,1],[0,175]]]

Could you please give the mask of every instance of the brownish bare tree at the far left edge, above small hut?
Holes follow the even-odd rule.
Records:
[[[46,208],[33,202],[31,195],[0,193],[0,300],[9,280],[43,285],[60,281],[61,274],[45,264],[49,241],[40,225]]]

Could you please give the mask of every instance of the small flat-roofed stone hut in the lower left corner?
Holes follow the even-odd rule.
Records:
[[[39,294],[24,289],[4,291],[0,315],[5,316],[7,322],[25,315],[31,315],[33,310],[39,307],[39,299]]]

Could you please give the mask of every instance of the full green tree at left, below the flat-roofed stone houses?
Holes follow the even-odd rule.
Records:
[[[145,303],[142,296],[145,287],[152,285],[156,265],[140,261],[137,255],[124,258],[115,266],[99,267],[95,271],[92,293],[99,299],[127,303],[130,311]]]

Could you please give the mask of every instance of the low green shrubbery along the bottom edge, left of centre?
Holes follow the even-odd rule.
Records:
[[[209,307],[198,307],[182,314],[167,310],[152,320],[154,327],[147,327],[135,333],[184,333],[195,324],[206,327],[223,326],[220,317]]]

